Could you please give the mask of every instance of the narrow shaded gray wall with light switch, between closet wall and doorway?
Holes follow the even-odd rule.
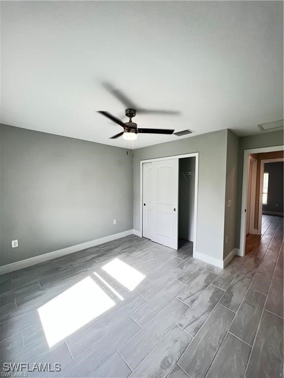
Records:
[[[237,135],[235,135],[232,131],[228,130],[224,221],[224,258],[235,248],[238,156],[239,137],[237,137]],[[231,207],[228,207],[228,200],[231,200]],[[227,243],[226,236],[228,238]]]

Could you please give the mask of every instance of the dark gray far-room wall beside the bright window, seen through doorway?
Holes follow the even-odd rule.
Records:
[[[262,211],[283,214],[283,162],[264,164],[264,172],[269,175],[267,205],[262,206]]]

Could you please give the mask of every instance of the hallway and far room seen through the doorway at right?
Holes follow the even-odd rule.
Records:
[[[245,254],[268,249],[283,230],[283,151],[250,154]]]

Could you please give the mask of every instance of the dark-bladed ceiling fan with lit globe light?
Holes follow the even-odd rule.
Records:
[[[116,139],[122,136],[126,140],[135,140],[137,139],[137,134],[173,134],[175,131],[174,129],[163,129],[163,128],[138,128],[135,122],[132,122],[132,118],[136,116],[135,109],[126,109],[125,115],[129,118],[129,122],[122,122],[120,119],[112,116],[108,112],[98,111],[98,113],[102,114],[109,120],[115,122],[117,125],[123,127],[123,131],[119,132],[116,135],[113,135],[109,139]]]

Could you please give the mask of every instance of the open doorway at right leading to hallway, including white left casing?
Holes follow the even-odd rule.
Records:
[[[282,146],[245,151],[240,240],[242,256],[260,248],[260,245],[263,249],[271,239],[267,237],[268,233],[272,232],[276,223],[283,221],[283,161]],[[270,165],[274,163],[275,168]],[[271,168],[273,175],[268,172]],[[282,220],[275,217],[282,217]]]

